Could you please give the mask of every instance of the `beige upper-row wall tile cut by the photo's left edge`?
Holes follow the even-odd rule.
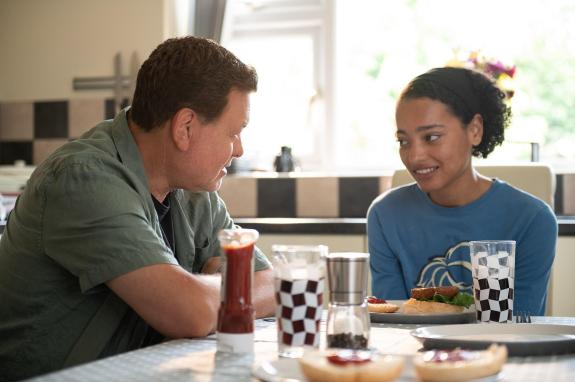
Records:
[[[34,104],[32,102],[0,103],[0,140],[34,139]]]

